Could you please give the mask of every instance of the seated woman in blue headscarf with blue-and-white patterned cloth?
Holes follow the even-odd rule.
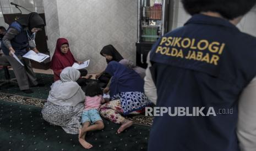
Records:
[[[116,61],[109,62],[105,72],[112,76],[110,98],[113,101],[103,104],[100,114],[113,123],[122,124],[117,130],[121,133],[133,124],[121,114],[141,113],[150,101],[144,94],[144,80],[137,72]]]

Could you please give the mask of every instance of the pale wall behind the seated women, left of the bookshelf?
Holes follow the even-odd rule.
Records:
[[[112,44],[124,58],[135,62],[137,1],[49,1],[43,0],[51,54],[55,51],[57,38],[63,37],[69,40],[75,59],[90,59],[89,73],[105,69],[106,60],[100,50],[107,44]]]

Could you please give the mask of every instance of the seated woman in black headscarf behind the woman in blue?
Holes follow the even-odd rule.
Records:
[[[115,47],[113,45],[105,45],[102,50],[100,51],[100,54],[106,58],[107,64],[111,61],[121,61],[123,59],[123,56],[118,53]],[[107,74],[105,71],[99,73],[95,77],[96,79],[99,78],[99,80],[103,83],[108,83],[110,81],[111,75]]]

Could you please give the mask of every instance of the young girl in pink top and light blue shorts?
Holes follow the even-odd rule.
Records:
[[[79,142],[84,148],[89,149],[92,145],[85,141],[85,135],[88,131],[104,129],[99,108],[105,100],[100,85],[95,82],[86,85],[85,95],[85,108],[81,118],[83,127],[79,130]]]

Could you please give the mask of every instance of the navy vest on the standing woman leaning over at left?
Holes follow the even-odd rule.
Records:
[[[12,40],[10,40],[10,43],[12,44],[12,47],[15,50],[15,55],[23,56],[26,54],[27,49],[29,48],[29,40],[28,40],[26,30],[24,30],[23,27],[16,21],[10,24],[9,28],[10,27],[13,27],[19,31],[19,34],[15,36]],[[3,53],[5,55],[9,55],[9,50],[7,49],[7,47],[4,44],[2,44],[1,47],[2,47]]]

